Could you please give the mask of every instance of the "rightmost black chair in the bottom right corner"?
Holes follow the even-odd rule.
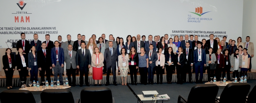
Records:
[[[250,88],[248,83],[229,83],[216,99],[219,103],[244,103]]]

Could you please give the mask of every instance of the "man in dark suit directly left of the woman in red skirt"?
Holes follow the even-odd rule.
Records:
[[[81,41],[81,49],[76,52],[76,68],[80,71],[80,87],[83,86],[84,81],[86,86],[89,85],[88,71],[91,68],[91,53],[89,49],[85,48],[85,42]]]

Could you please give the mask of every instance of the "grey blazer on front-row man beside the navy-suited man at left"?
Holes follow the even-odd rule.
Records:
[[[76,69],[76,51],[72,50],[71,58],[69,57],[69,51],[64,52],[64,61],[66,62],[66,70],[71,68]],[[70,63],[71,62],[71,63]]]

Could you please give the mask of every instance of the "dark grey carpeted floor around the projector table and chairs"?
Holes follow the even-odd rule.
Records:
[[[251,85],[251,89],[256,85],[256,80],[248,80],[248,82]],[[164,103],[176,103],[178,101],[178,96],[183,95],[185,98],[188,98],[188,94],[190,92],[190,89],[192,86],[196,85],[195,82],[193,84],[185,83],[183,85],[177,85],[176,83],[172,84],[154,84],[154,85],[129,85],[130,88],[134,91],[135,94],[142,94],[142,91],[151,91],[156,90],[160,95],[161,94],[167,94],[171,99],[164,100]],[[102,85],[105,86],[105,85]],[[128,85],[109,85],[108,88],[112,91],[112,96],[115,98],[116,103],[137,103],[137,98],[132,93],[131,89]],[[94,85],[90,85],[90,87],[95,87]],[[99,86],[97,86],[99,87]],[[220,96],[221,92],[223,91],[225,86],[219,86],[219,92],[217,96]],[[14,87],[14,89],[19,89],[20,87]],[[79,85],[75,87],[71,87],[69,90],[73,93],[74,99],[80,98],[80,92],[82,88],[87,88],[87,86],[79,87]],[[7,90],[6,87],[1,87],[0,92],[3,90]],[[36,99],[36,102],[39,102],[40,99],[40,93],[41,92],[32,92],[34,95],[34,98]],[[250,92],[249,92],[250,93]],[[248,93],[248,94],[249,94]],[[154,101],[153,101],[154,102]],[[162,102],[161,100],[158,100],[158,102]],[[143,101],[143,103],[151,103],[151,101]]]

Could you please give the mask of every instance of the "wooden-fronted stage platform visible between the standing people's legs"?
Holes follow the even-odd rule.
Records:
[[[192,82],[196,82],[195,77],[196,77],[196,74],[192,73]],[[227,77],[227,74],[226,74],[226,77]],[[232,73],[230,73],[230,77],[232,78]],[[63,76],[63,80],[66,79],[66,78],[67,78],[67,76]],[[72,78],[72,76],[71,76],[71,78]],[[107,74],[104,74],[103,79],[101,81],[101,84],[105,84],[107,82],[106,78],[107,78]],[[46,80],[46,76],[44,77],[44,79]],[[51,76],[52,81],[53,81],[53,79],[54,79],[54,77]],[[252,72],[247,72],[247,79],[248,80],[256,79],[256,70],[252,70]],[[6,77],[5,76],[0,76],[0,87],[5,87],[5,81],[6,81]],[[30,81],[30,77],[27,77],[27,83],[26,84],[28,84],[28,81]],[[38,81],[41,82],[41,77],[39,75],[38,75]],[[79,81],[80,81],[80,76],[76,75],[76,85],[80,85]],[[188,74],[186,76],[186,81],[188,82]],[[207,71],[206,71],[206,73],[204,73],[203,81],[207,82]],[[113,75],[112,74],[110,74],[109,82],[110,82],[110,84],[113,84]],[[165,72],[165,74],[163,74],[163,83],[166,83],[166,82],[167,82],[167,80],[166,80],[166,72]],[[172,74],[172,82],[177,82],[177,74]],[[117,84],[122,83],[120,74],[116,75],[116,83]],[[128,74],[127,83],[131,83],[130,74]],[[140,73],[137,73],[137,83],[140,83]],[[156,83],[156,74],[154,75],[154,83]],[[20,86],[21,82],[20,82],[20,76],[19,75],[14,75],[13,76],[12,84],[13,84],[13,86]],[[89,75],[89,84],[94,85],[94,80],[92,79],[92,75]],[[83,85],[85,85],[85,84],[83,84]]]

